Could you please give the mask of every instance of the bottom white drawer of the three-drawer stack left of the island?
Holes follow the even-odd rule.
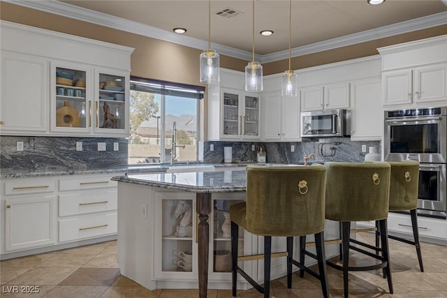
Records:
[[[117,233],[117,212],[59,220],[59,242]]]

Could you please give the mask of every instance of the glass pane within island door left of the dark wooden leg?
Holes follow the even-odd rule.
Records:
[[[193,271],[193,200],[161,200],[161,272]]]

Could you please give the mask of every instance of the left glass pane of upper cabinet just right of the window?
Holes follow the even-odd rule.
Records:
[[[223,92],[223,136],[239,136],[239,95]]]

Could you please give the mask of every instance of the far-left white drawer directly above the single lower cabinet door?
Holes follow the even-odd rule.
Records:
[[[23,195],[27,193],[52,193],[56,188],[56,181],[51,179],[30,179],[5,181],[5,195]]]

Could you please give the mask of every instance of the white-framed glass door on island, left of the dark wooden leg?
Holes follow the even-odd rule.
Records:
[[[156,278],[197,276],[195,194],[157,192],[154,225]]]

